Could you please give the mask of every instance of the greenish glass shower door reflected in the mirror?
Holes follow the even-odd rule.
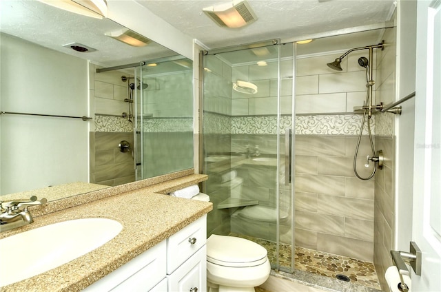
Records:
[[[136,102],[137,179],[193,167],[193,63],[183,56],[144,61]]]

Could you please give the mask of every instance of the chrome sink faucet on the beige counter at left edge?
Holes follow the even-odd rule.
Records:
[[[43,205],[46,202],[48,202],[46,198],[37,200],[36,196],[30,197],[29,200],[1,201],[0,232],[22,227],[34,222],[28,207]]]

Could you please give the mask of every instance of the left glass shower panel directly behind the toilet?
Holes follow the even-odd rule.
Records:
[[[205,52],[203,167],[214,203],[208,233],[258,242],[272,269],[291,271],[293,65],[285,51],[292,56],[292,45],[271,41]]]

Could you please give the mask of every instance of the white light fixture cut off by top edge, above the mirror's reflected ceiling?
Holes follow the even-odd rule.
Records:
[[[81,14],[85,17],[103,19],[107,17],[107,1],[105,0],[39,0],[50,6]]]

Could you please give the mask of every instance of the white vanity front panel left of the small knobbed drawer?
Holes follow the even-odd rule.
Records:
[[[156,244],[83,291],[149,291],[165,277],[166,244]]]

